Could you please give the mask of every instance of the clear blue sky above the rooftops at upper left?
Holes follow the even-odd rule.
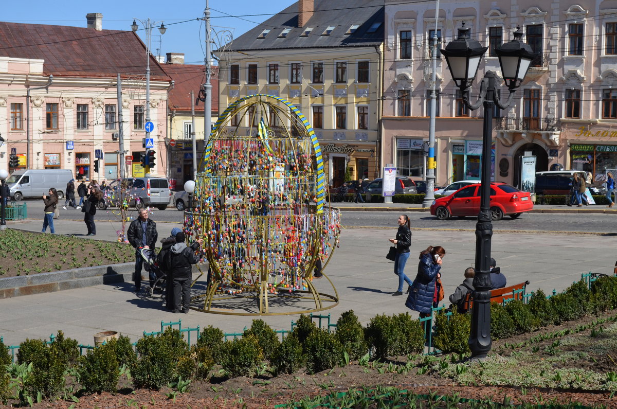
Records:
[[[71,25],[86,27],[86,14],[101,13],[103,28],[109,30],[130,30],[133,18],[156,22],[163,20],[167,32],[161,36],[159,30],[152,30],[152,53],[157,54],[160,40],[160,54],[184,53],[186,64],[204,63],[204,22],[197,18],[204,16],[205,0],[150,0],[144,2],[108,0],[88,5],[83,0],[29,0],[25,2],[5,0],[2,2],[0,20],[15,23]],[[221,32],[230,30],[234,37],[247,32],[257,23],[268,19],[294,0],[210,0],[212,26]],[[226,15],[248,17],[225,17]],[[259,14],[259,15],[258,15]],[[193,21],[188,21],[193,20]],[[138,22],[139,23],[139,22]],[[140,28],[143,28],[141,24]],[[160,25],[160,23],[159,23]],[[140,31],[145,42],[146,36]]]

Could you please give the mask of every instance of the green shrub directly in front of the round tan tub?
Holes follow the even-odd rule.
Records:
[[[111,343],[89,350],[78,360],[77,373],[81,386],[89,394],[118,390],[118,359]]]

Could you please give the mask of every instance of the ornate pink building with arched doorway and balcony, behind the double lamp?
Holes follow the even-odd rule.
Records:
[[[538,53],[507,111],[495,109],[493,180],[520,182],[520,160],[537,157],[537,171],[561,165],[602,175],[617,168],[617,9],[615,2],[434,2],[386,0],[381,162],[424,179],[423,144],[429,137],[431,44],[453,40],[465,22],[489,47],[471,90],[484,72],[501,74],[494,48],[521,27]],[[437,59],[437,185],[479,179],[482,108],[468,111],[445,59]],[[507,87],[500,91],[507,98]]]

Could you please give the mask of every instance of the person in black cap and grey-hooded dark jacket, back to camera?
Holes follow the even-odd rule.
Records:
[[[190,246],[184,243],[184,232],[176,234],[176,243],[165,255],[165,265],[172,272],[173,280],[173,313],[189,312],[191,305],[191,278],[193,277],[192,264],[197,264],[199,256],[196,251],[203,245],[204,240],[199,238]]]

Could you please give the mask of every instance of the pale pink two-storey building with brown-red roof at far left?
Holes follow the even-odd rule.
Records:
[[[9,169],[14,153],[19,168],[72,169],[75,179],[116,179],[121,166],[127,175],[143,173],[143,167],[120,163],[118,131],[122,125],[126,155],[138,162],[145,151],[146,48],[131,30],[102,30],[101,14],[88,14],[87,23],[80,28],[0,22],[0,167]],[[164,176],[171,79],[152,56],[150,67],[151,137],[159,159],[151,173]],[[117,74],[123,85],[120,107]]]

